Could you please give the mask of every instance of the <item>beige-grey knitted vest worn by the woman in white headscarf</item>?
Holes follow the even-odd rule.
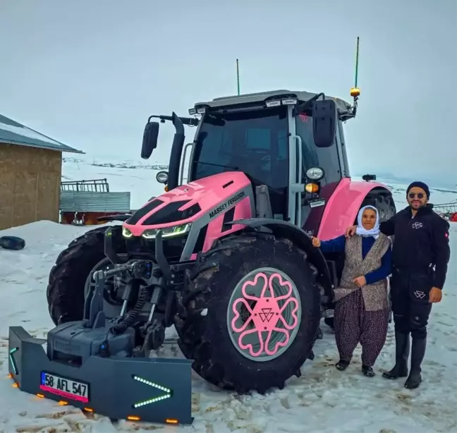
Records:
[[[353,236],[346,239],[346,260],[344,262],[343,275],[341,276],[340,287],[335,289],[335,300],[340,300],[353,291],[360,290],[353,280],[358,276],[366,275],[381,267],[382,256],[390,247],[390,240],[387,236],[379,233],[379,238],[374,244],[365,259],[362,259],[362,238]],[[365,303],[365,310],[377,311],[389,306],[387,298],[387,279],[377,281],[374,284],[363,286],[362,297]]]

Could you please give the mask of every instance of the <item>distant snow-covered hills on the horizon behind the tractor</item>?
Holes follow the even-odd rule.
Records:
[[[83,181],[97,178],[106,178],[111,191],[130,191],[132,209],[138,209],[152,196],[164,192],[164,185],[157,183],[157,171],[166,170],[166,164],[138,160],[123,160],[115,157],[93,157],[78,155],[78,157],[63,158],[63,181]],[[414,181],[416,179],[411,179]],[[406,205],[406,186],[403,183],[391,182],[389,179],[379,178],[386,183],[394,194],[397,209]],[[439,188],[439,185],[430,184],[431,202],[435,205],[457,200],[457,190]]]

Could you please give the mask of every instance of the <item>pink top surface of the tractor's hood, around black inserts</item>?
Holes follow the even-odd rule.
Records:
[[[224,185],[231,181],[233,181],[233,183],[224,188]],[[250,185],[249,179],[240,171],[228,171],[226,173],[208,176],[207,178],[202,178],[198,181],[178,186],[178,188],[160,195],[157,199],[163,202],[162,205],[159,205],[155,209],[152,209],[151,212],[148,212],[140,219],[140,221],[138,221],[137,224],[124,223],[123,226],[128,228],[128,230],[133,233],[133,236],[141,236],[145,230],[150,230],[151,228],[171,227],[176,226],[176,223],[187,224],[200,218],[200,216],[206,214],[209,209],[212,209],[215,205],[217,205],[217,203],[223,202],[224,199],[231,197],[238,190],[245,188],[248,185]],[[183,211],[192,207],[195,203],[198,203],[201,211],[188,219],[183,219],[182,221],[173,221],[167,224],[156,224],[152,226],[142,225],[150,216],[159,212],[160,209],[166,207],[169,203],[181,200],[190,200],[190,202],[183,205],[183,207],[180,207],[179,210]]]

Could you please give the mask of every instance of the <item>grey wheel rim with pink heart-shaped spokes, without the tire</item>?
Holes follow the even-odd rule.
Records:
[[[255,269],[233,289],[227,330],[238,353],[249,360],[267,362],[283,355],[295,341],[300,322],[300,294],[279,269]]]

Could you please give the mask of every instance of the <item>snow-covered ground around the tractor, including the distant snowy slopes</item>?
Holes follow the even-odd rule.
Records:
[[[86,157],[85,157],[86,158]],[[95,163],[95,165],[93,165]],[[106,164],[108,166],[101,166]],[[132,208],[162,185],[155,181],[161,164],[67,159],[64,180],[108,178],[111,190],[130,190]],[[130,168],[129,168],[130,167]],[[397,208],[404,206],[405,185],[389,183]],[[432,190],[435,203],[456,200],[456,193]],[[283,390],[265,396],[236,396],[193,377],[193,426],[112,423],[106,417],[87,417],[71,406],[24,394],[11,386],[8,370],[8,327],[22,325],[34,336],[44,337],[52,327],[47,312],[47,276],[59,252],[90,228],[40,221],[0,231],[25,238],[22,251],[0,249],[0,432],[202,432],[202,433],[432,433],[457,432],[457,258],[452,257],[443,301],[434,307],[429,325],[429,346],[420,389],[408,391],[403,382],[382,379],[382,370],[394,360],[394,334],[389,329],[386,346],[376,365],[377,376],[360,374],[360,348],[346,372],[339,372],[334,334],[323,326],[316,358],[305,362],[302,377],[291,379]],[[451,248],[457,248],[457,224],[451,224]],[[169,336],[174,330],[169,329]],[[181,356],[176,345],[159,355]]]

